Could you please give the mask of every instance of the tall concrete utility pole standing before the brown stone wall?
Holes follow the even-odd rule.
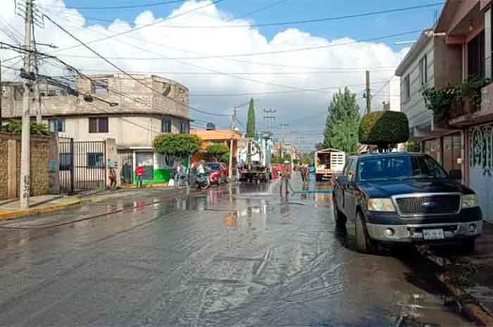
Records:
[[[25,1],[25,34],[24,34],[24,70],[27,74],[31,73],[32,59],[32,1]],[[31,107],[31,85],[29,80],[24,80],[23,94],[23,130],[20,143],[20,208],[29,207],[30,197],[30,117]]]

